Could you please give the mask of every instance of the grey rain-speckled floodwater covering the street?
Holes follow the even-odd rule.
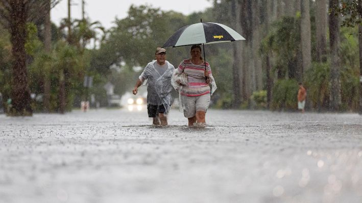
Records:
[[[0,202],[362,202],[362,116],[0,115]]]

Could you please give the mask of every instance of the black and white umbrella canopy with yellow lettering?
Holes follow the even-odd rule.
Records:
[[[224,24],[199,22],[180,28],[162,47],[211,44],[236,40],[245,40],[245,38]]]

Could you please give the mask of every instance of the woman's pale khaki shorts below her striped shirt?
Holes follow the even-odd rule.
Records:
[[[196,115],[197,111],[206,112],[210,104],[210,94],[201,96],[184,96],[181,95],[181,100],[187,102],[187,109],[183,110],[183,115],[186,118],[191,118]]]

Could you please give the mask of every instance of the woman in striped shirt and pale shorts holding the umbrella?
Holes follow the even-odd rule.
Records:
[[[175,70],[173,80],[181,86],[175,87],[180,93],[180,102],[183,106],[183,114],[188,119],[188,126],[205,126],[206,112],[210,104],[210,86],[212,92],[216,89],[216,84],[212,77],[210,64],[201,57],[201,46],[192,45],[190,59],[183,60]],[[205,70],[206,65],[206,70]],[[187,83],[182,83],[179,75],[187,77]]]

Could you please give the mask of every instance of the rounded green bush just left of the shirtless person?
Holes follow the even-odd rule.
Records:
[[[271,110],[296,110],[297,95],[297,80],[277,80],[273,87]]]

